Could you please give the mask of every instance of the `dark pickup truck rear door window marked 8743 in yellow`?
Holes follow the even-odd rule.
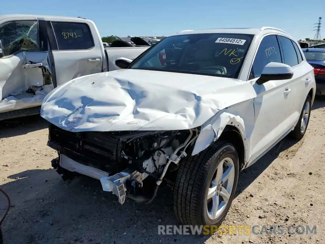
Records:
[[[94,40],[86,23],[52,22],[59,50],[85,50],[94,47]]]

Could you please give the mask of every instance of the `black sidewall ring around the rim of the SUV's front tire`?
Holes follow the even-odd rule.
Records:
[[[239,174],[239,158],[238,158],[238,154],[237,154],[237,151],[235,149],[235,147],[230,144],[230,143],[225,143],[225,144],[222,144],[222,146],[219,148],[221,149],[223,148],[219,153],[218,151],[209,159],[212,160],[211,162],[211,166],[210,166],[210,169],[206,175],[206,179],[205,179],[205,182],[204,182],[204,185],[202,187],[202,195],[201,195],[201,204],[200,204],[200,217],[201,217],[201,220],[202,220],[202,223],[206,223],[208,225],[213,225],[213,224],[217,224],[219,222],[221,222],[230,206],[231,206],[231,203],[232,203],[232,200],[235,196],[235,192],[236,192],[236,188],[237,188],[237,183],[238,183],[238,174]],[[224,212],[222,213],[222,215],[220,215],[217,219],[215,220],[211,220],[209,217],[208,217],[208,214],[207,214],[207,210],[206,210],[206,204],[207,204],[207,194],[208,194],[208,190],[209,190],[209,187],[210,187],[210,183],[212,181],[212,177],[219,165],[219,163],[226,157],[229,157],[233,160],[234,162],[234,166],[235,166],[235,179],[234,179],[234,185],[233,185],[233,188],[232,188],[232,192],[231,192],[231,195],[230,195],[230,199],[227,203],[227,206],[226,206],[226,209],[224,210]]]

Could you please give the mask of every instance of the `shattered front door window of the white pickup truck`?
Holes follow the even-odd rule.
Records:
[[[10,21],[0,26],[4,56],[18,51],[39,50],[38,24],[34,20]]]

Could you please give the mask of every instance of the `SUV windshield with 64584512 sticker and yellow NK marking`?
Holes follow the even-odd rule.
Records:
[[[237,78],[252,39],[227,33],[169,36],[129,68]]]

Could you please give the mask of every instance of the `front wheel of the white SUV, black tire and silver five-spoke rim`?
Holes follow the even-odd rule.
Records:
[[[180,161],[174,186],[174,211],[186,225],[220,225],[234,198],[239,158],[228,142],[216,142]]]

